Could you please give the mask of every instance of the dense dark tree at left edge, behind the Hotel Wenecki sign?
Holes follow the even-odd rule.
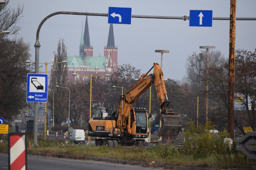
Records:
[[[26,107],[29,51],[23,39],[0,39],[0,115],[7,120]]]

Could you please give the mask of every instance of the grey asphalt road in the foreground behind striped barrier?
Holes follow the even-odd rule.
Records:
[[[8,154],[0,154],[0,170],[8,169]],[[93,160],[27,156],[27,170],[153,170],[156,167],[142,167],[130,164],[114,164]]]

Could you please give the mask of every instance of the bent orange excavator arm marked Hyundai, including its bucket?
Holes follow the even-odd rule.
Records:
[[[153,70],[153,74],[148,73]],[[152,68],[145,74],[142,74],[136,84],[130,88],[121,97],[118,105],[117,113],[117,126],[120,132],[123,133],[124,129],[128,129],[128,133],[131,133],[130,128],[130,110],[136,100],[154,83],[156,87],[156,93],[158,96],[158,102],[160,104],[161,114],[159,115],[161,123],[161,129],[159,136],[163,137],[176,137],[181,129],[182,120],[179,115],[176,115],[172,109],[168,109],[170,101],[167,98],[167,91],[164,84],[163,72],[158,63],[154,63]],[[128,123],[126,120],[129,120]]]

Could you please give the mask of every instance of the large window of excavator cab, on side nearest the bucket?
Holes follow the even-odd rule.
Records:
[[[147,133],[147,114],[144,110],[136,110],[136,133]]]

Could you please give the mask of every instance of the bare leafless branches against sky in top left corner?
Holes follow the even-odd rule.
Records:
[[[8,30],[10,34],[16,34],[21,27],[17,23],[22,17],[23,7],[18,5],[16,9],[8,8],[10,0],[6,0],[5,4],[0,4],[0,31]]]

